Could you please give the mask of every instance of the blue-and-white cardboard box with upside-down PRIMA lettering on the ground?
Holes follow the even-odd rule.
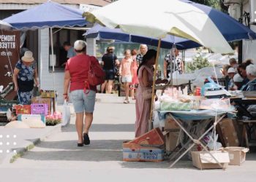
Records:
[[[164,154],[164,149],[158,147],[123,143],[123,160],[127,162],[161,162],[164,160]]]

